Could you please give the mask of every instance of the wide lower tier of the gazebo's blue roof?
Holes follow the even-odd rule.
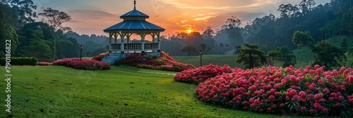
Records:
[[[112,27],[104,29],[104,32],[114,30],[158,30],[163,32],[165,29],[145,20],[124,20]]]

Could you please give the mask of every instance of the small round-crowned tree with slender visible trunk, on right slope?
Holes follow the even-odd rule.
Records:
[[[313,37],[310,36],[309,32],[301,32],[301,31],[296,31],[293,34],[292,42],[293,44],[296,44],[298,48],[301,48],[302,46],[306,46],[306,52],[308,51],[308,46],[309,48],[313,47]],[[306,65],[308,65],[308,53],[306,53]]]

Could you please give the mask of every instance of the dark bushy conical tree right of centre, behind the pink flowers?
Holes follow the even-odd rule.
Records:
[[[241,48],[240,54],[237,56],[236,63],[244,63],[244,67],[253,68],[261,64],[267,63],[266,54],[261,51],[260,47],[256,44],[244,44],[246,48]]]

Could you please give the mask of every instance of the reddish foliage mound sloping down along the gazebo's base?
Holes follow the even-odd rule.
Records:
[[[194,65],[178,63],[167,53],[163,51],[160,53],[160,57],[157,55],[154,56],[145,56],[145,55],[127,55],[126,58],[122,58],[120,63],[117,65],[128,64],[131,66],[136,66],[145,69],[151,70],[165,70],[165,71],[174,71],[181,72],[183,70],[195,69]]]

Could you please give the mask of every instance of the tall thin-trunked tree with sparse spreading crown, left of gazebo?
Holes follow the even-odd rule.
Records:
[[[71,16],[63,11],[54,10],[52,8],[47,8],[43,10],[44,13],[39,13],[38,15],[47,18],[47,23],[54,28],[53,30],[53,37],[54,37],[54,60],[56,58],[56,35],[55,32],[58,29],[63,31],[71,30],[70,27],[63,27],[62,24],[64,22],[68,22],[71,20]]]

